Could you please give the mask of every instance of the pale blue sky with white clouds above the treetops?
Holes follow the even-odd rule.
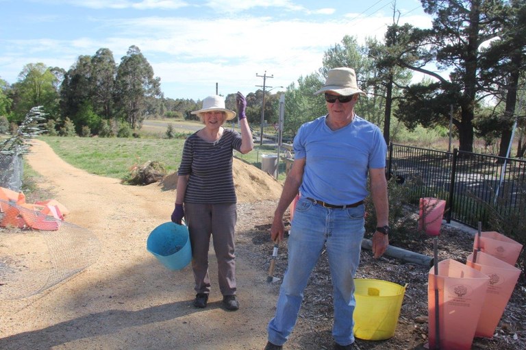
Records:
[[[0,79],[26,64],[68,71],[108,48],[116,64],[135,45],[164,97],[204,99],[284,91],[355,36],[383,40],[395,0],[0,0]],[[397,0],[399,24],[430,27],[420,0]],[[265,77],[264,77],[265,76]],[[284,86],[284,88],[280,88]]]

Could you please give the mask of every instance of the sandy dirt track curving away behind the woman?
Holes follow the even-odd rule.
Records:
[[[240,232],[244,216],[268,220],[274,209],[271,198],[238,212],[240,310],[221,308],[212,250],[210,303],[197,310],[191,306],[195,292],[190,266],[168,271],[145,249],[149,232],[169,220],[174,190],[158,184],[124,186],[117,179],[90,175],[62,161],[41,141],[35,141],[27,161],[43,177],[39,186],[71,211],[66,221],[91,230],[101,251],[95,264],[72,279],[34,297],[2,301],[0,349],[264,347],[277,286],[267,284],[266,266],[255,266]],[[288,349],[305,347],[292,338]]]

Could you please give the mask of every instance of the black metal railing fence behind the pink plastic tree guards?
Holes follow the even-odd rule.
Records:
[[[414,197],[446,200],[448,223],[488,225],[490,210],[526,215],[526,160],[390,144],[387,166],[412,184]]]

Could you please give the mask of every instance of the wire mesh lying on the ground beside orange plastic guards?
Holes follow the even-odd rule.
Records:
[[[15,227],[21,218],[8,216],[27,209],[8,201],[0,205],[0,299],[36,295],[97,261],[100,242],[88,229],[38,213],[36,220],[54,223],[53,230]]]

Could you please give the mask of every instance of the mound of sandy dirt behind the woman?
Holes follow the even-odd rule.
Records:
[[[234,158],[232,169],[238,203],[279,199],[283,186],[271,175],[238,158]],[[177,173],[164,177],[159,186],[162,186],[162,190],[177,189]]]

